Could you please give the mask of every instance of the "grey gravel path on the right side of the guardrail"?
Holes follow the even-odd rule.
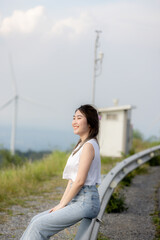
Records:
[[[100,232],[111,240],[153,240],[155,227],[151,213],[155,210],[155,190],[160,188],[160,167],[137,175],[130,187],[122,191],[128,210],[120,214],[104,214]]]

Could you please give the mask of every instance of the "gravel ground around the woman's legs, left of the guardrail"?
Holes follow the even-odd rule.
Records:
[[[61,195],[64,192],[64,189],[58,187],[56,188],[55,192],[57,195]],[[6,221],[3,224],[0,224],[0,240],[19,240],[33,216],[35,216],[37,213],[52,208],[58,203],[58,200],[54,201],[51,198],[54,198],[54,196],[51,197],[51,194],[48,194],[48,197],[47,194],[45,194],[45,196],[31,196],[30,199],[26,201],[27,207],[21,207],[16,205],[9,208],[9,210],[12,211],[12,214],[11,216],[5,215]],[[3,213],[0,213],[0,216],[3,215]],[[50,239],[74,239],[74,236],[77,232],[77,225],[78,224],[68,229],[65,229],[64,231],[61,231]]]

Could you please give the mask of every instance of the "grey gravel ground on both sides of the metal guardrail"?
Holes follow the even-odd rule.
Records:
[[[123,190],[128,210],[121,214],[104,214],[104,224],[100,232],[111,240],[152,240],[155,227],[151,213],[155,207],[155,187],[160,187],[160,167],[149,168],[149,173],[137,175],[129,188]],[[63,188],[57,188],[60,194]],[[37,213],[53,207],[57,202],[47,196],[36,196],[27,201],[27,207],[12,206],[12,215],[5,215],[6,221],[0,224],[1,240],[19,240],[30,219]],[[3,213],[0,216],[3,217]],[[78,224],[77,224],[78,225]],[[77,231],[77,225],[70,227],[52,240],[71,240]]]

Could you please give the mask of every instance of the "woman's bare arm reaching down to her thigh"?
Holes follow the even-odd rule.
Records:
[[[76,180],[73,182],[70,190],[65,191],[66,193],[64,193],[60,203],[51,210],[52,212],[65,207],[72,200],[72,198],[80,191],[80,189],[83,187],[83,185],[86,181],[91,163],[94,159],[94,154],[95,153],[94,153],[94,148],[93,148],[92,144],[86,143],[84,145],[82,153],[81,153]],[[68,186],[67,186],[67,188],[68,188]]]

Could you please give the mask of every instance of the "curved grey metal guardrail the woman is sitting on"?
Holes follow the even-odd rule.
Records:
[[[96,240],[100,222],[106,206],[110,200],[110,197],[118,185],[118,183],[131,171],[149,161],[155,156],[160,155],[160,145],[149,148],[140,153],[134,154],[122,162],[119,162],[103,179],[101,185],[98,188],[101,208],[97,218],[87,219],[84,218],[81,221],[75,240]]]

